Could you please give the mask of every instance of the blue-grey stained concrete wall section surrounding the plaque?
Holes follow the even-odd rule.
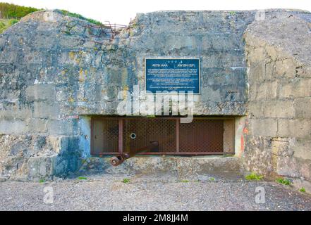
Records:
[[[202,94],[195,98],[195,113],[244,115],[243,32],[254,14],[140,14],[114,38],[109,30],[86,27],[87,22],[56,11],[26,16],[0,37],[0,134],[9,135],[0,142],[1,173],[27,179],[78,169],[90,142],[78,116],[116,115],[119,91],[133,85],[144,90],[147,56],[200,58]],[[24,149],[14,141],[25,135],[53,136],[53,147],[31,154],[31,143]],[[51,169],[33,169],[44,164]]]

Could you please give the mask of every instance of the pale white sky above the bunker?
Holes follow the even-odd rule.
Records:
[[[2,2],[35,8],[65,9],[102,23],[109,21],[121,25],[128,25],[136,13],[161,10],[295,8],[311,11],[310,0],[4,0]]]

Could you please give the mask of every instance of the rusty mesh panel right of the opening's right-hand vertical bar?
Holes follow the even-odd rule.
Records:
[[[224,122],[198,120],[180,124],[180,152],[223,152]]]

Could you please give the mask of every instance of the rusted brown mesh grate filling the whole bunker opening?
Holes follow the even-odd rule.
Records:
[[[135,153],[157,141],[145,155],[211,155],[233,153],[234,120],[195,118],[188,124],[176,117],[94,117],[92,155]]]

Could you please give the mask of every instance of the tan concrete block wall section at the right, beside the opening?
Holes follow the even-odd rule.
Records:
[[[310,18],[310,13],[267,13],[245,32],[244,157],[250,171],[311,181]]]

